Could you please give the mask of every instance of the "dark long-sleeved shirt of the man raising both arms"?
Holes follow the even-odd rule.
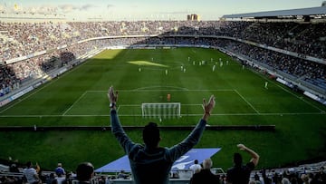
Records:
[[[110,111],[111,131],[128,155],[132,177],[139,184],[168,184],[173,163],[191,150],[205,131],[206,121],[200,120],[185,140],[171,148],[155,148],[134,143],[123,130],[116,110]]]

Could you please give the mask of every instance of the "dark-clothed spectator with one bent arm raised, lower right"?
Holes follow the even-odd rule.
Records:
[[[247,147],[244,144],[238,144],[237,147],[240,150],[248,152],[252,159],[243,165],[243,159],[240,153],[234,155],[234,167],[230,168],[226,172],[226,181],[232,184],[247,184],[249,182],[250,173],[254,167],[258,164],[259,155]]]

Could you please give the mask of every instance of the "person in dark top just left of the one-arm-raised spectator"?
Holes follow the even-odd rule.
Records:
[[[190,184],[217,184],[219,183],[219,177],[211,172],[213,161],[206,159],[203,162],[203,169],[198,173],[195,173],[190,179]]]

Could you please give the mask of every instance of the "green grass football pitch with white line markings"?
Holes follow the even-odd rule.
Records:
[[[206,63],[199,65],[201,61]],[[196,148],[222,148],[212,158],[214,167],[231,167],[238,143],[260,154],[257,169],[326,159],[325,106],[264,74],[243,70],[241,64],[212,49],[104,51],[2,107],[0,126],[109,126],[110,85],[119,91],[122,125],[144,126],[149,121],[160,126],[196,125],[203,98],[208,100],[211,94],[216,96],[216,108],[210,125],[275,125],[275,131],[206,130]],[[180,118],[141,117],[141,103],[167,102],[168,94],[170,102],[181,103]],[[141,131],[127,133],[141,142]],[[173,146],[188,133],[162,131],[160,145]],[[0,135],[0,158],[32,160],[45,169],[62,162],[73,170],[82,161],[99,168],[124,155],[110,131],[2,131]]]

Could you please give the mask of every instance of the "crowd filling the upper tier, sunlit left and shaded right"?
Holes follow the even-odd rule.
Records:
[[[2,48],[0,60],[6,61],[94,37],[149,34],[230,36],[325,58],[325,25],[325,23],[245,21],[125,21],[61,24],[0,22],[0,47]]]

